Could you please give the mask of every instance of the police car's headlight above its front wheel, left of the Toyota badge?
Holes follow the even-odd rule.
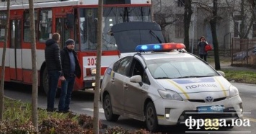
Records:
[[[180,97],[180,94],[172,90],[159,89],[158,92],[161,95],[161,97],[164,99],[172,99],[172,100],[180,100],[180,101],[183,100],[182,97]]]

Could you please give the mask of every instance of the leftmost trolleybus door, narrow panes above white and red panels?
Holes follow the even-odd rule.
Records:
[[[21,19],[10,20],[9,63],[10,79],[22,81]]]

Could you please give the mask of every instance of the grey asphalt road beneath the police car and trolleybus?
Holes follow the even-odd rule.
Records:
[[[219,130],[203,131],[189,130],[186,126],[168,126],[162,127],[161,132],[166,134],[172,133],[256,133],[256,85],[233,83],[239,89],[240,97],[242,97],[244,107],[244,119],[250,120],[250,127],[220,128]],[[6,84],[4,95],[13,99],[20,99],[23,102],[31,102],[31,86],[22,84]],[[38,107],[45,109],[46,96],[43,93],[38,95]],[[92,91],[74,91],[71,99],[71,110],[77,114],[93,115],[94,94]],[[56,107],[58,106],[58,98],[56,99]],[[100,104],[101,107],[101,104]],[[120,117],[118,122],[108,122],[105,120],[104,112],[100,108],[100,120],[108,126],[119,126],[131,130],[146,129],[144,122]]]

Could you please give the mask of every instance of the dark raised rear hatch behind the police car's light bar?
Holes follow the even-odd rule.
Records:
[[[136,52],[137,45],[164,43],[161,27],[154,22],[126,22],[115,24],[112,34],[120,53]]]

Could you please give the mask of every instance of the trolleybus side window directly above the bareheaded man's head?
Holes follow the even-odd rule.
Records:
[[[45,43],[45,41],[50,38],[49,35],[51,34],[53,21],[52,16],[52,11],[49,9],[40,11],[40,22],[38,27],[40,43]]]

